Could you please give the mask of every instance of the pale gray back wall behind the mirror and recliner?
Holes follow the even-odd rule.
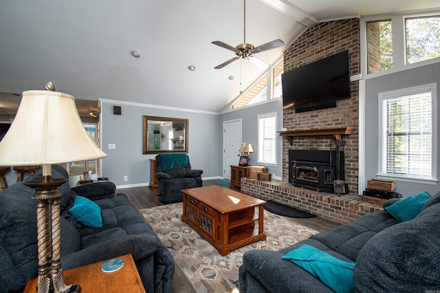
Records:
[[[203,170],[203,179],[221,175],[221,133],[217,113],[191,113],[140,105],[118,105],[102,100],[101,148],[108,157],[101,160],[101,176],[118,187],[144,186],[150,182],[150,158],[142,154],[142,118],[160,116],[188,119],[188,155],[192,169]],[[122,107],[122,115],[113,115],[113,105]],[[116,144],[116,149],[108,149]],[[128,176],[128,181],[124,181]]]

